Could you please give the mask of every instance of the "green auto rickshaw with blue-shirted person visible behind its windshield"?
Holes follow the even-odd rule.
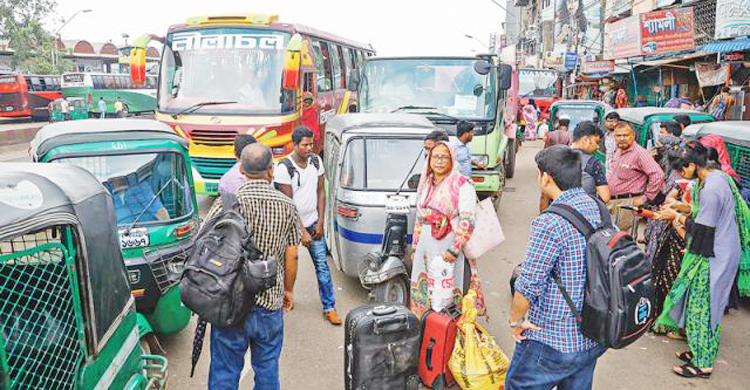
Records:
[[[120,247],[142,333],[176,333],[190,321],[178,286],[198,206],[186,141],[146,119],[86,119],[43,127],[34,161],[76,165],[112,194]]]

